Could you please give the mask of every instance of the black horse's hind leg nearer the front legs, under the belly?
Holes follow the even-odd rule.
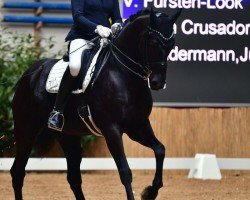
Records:
[[[82,192],[82,177],[80,171],[80,164],[82,161],[82,147],[80,138],[76,136],[64,135],[59,139],[62,149],[67,159],[67,180],[70,184],[77,200],[84,200]]]

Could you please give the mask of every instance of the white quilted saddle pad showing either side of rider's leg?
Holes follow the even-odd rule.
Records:
[[[86,73],[86,76],[83,80],[82,89],[78,89],[76,91],[73,91],[74,94],[79,94],[82,92],[85,92],[87,89],[93,75],[93,71],[95,70],[95,64],[97,62],[97,58],[102,50],[102,48],[105,47],[105,44],[103,42],[100,43],[100,48],[97,51],[96,55],[93,57],[92,62],[90,64],[90,67]],[[66,71],[67,67],[69,65],[69,62],[64,62],[63,59],[59,60],[51,69],[47,82],[46,82],[46,90],[49,93],[57,93],[59,90],[59,86],[63,77],[64,72]]]

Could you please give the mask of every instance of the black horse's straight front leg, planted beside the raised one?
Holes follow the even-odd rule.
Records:
[[[126,189],[127,199],[134,200],[132,191],[132,173],[129,168],[122,142],[122,135],[118,127],[103,131],[109,151],[117,165],[120,179]]]

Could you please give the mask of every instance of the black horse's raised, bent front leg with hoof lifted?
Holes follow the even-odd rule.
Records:
[[[162,181],[162,171],[163,171],[163,161],[165,158],[165,147],[159,140],[155,137],[149,120],[147,120],[143,125],[137,127],[135,130],[131,130],[128,136],[140,144],[153,149],[156,158],[156,172],[152,183],[152,186],[148,186],[144,189],[141,194],[142,200],[152,200],[156,199],[158,195],[158,190],[163,186]]]

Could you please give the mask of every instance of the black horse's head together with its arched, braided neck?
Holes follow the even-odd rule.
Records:
[[[114,58],[134,75],[149,80],[153,90],[166,84],[167,57],[175,44],[173,25],[180,14],[181,9],[172,16],[152,9],[138,11],[111,43]]]

